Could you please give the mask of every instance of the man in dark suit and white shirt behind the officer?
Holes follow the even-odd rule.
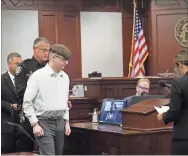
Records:
[[[1,75],[1,151],[9,153],[16,151],[16,128],[4,123],[12,122],[12,110],[17,108],[17,96],[14,75],[17,65],[22,61],[18,53],[11,53],[7,57],[8,71]]]

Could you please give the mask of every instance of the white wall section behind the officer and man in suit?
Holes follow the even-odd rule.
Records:
[[[7,55],[19,53],[23,59],[32,57],[32,45],[38,37],[38,11],[2,10],[1,73],[7,70]]]

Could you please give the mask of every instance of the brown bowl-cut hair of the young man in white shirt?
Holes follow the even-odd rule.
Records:
[[[50,53],[60,55],[65,60],[69,60],[71,57],[71,51],[66,46],[64,46],[62,44],[53,44],[50,47]]]

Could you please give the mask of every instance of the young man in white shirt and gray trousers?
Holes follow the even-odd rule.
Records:
[[[68,94],[70,80],[63,71],[71,56],[64,45],[52,45],[49,63],[34,72],[27,82],[23,109],[33,126],[41,155],[55,155],[56,148],[63,149],[64,132],[70,135]],[[59,137],[61,136],[61,137]],[[56,144],[56,139],[60,142]]]

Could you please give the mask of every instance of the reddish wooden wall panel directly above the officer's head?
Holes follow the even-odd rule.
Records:
[[[39,36],[46,37],[51,44],[58,43],[58,12],[39,11]]]

